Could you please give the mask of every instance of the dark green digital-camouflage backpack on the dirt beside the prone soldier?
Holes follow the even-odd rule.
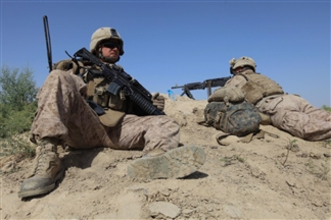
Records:
[[[225,133],[245,136],[259,130],[261,117],[257,108],[246,101],[241,103],[210,102],[204,111],[206,125]]]

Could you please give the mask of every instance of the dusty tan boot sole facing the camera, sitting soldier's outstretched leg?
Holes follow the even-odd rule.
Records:
[[[156,157],[142,157],[127,167],[133,179],[180,178],[197,171],[206,161],[204,150],[187,145]]]

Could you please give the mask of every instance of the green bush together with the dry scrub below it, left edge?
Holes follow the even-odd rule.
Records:
[[[34,155],[34,147],[22,134],[31,127],[37,109],[38,88],[33,72],[1,67],[0,75],[0,156],[15,154],[19,157]]]

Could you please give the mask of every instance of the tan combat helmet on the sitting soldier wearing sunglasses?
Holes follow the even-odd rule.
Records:
[[[91,42],[90,42],[90,52],[95,54],[95,50],[98,48],[100,43],[106,40],[115,40],[119,44],[119,55],[123,55],[123,40],[117,30],[112,27],[101,27],[97,29],[91,37]]]

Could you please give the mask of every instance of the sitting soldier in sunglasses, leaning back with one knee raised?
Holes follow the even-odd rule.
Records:
[[[92,34],[90,52],[104,63],[116,65],[124,54],[123,41],[114,28],[99,28]],[[204,164],[206,154],[201,147],[178,147],[179,126],[173,119],[137,116],[123,92],[106,92],[110,82],[102,77],[100,68],[78,64],[64,60],[54,65],[37,94],[38,109],[30,134],[30,140],[38,145],[35,167],[21,185],[20,198],[48,193],[63,177],[65,167],[57,154],[58,145],[143,150],[145,156],[128,166],[131,178],[179,178]],[[105,114],[98,116],[86,100],[101,105]],[[156,93],[152,101],[164,109],[164,97]]]

